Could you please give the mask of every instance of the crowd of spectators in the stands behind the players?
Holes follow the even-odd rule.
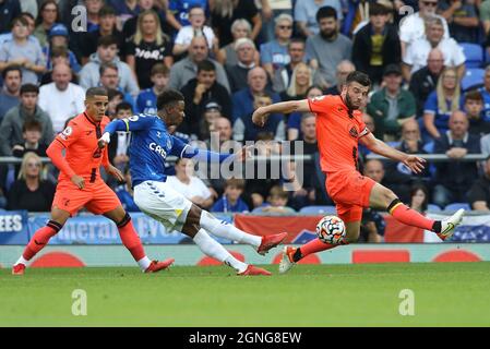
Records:
[[[251,115],[280,100],[338,95],[359,70],[373,82],[363,120],[377,137],[449,158],[414,174],[366,160],[360,146],[360,170],[421,212],[455,202],[488,210],[490,160],[458,160],[490,155],[486,57],[490,0],[0,0],[0,156],[23,158],[1,166],[0,207],[49,210],[56,177],[39,157],[94,86],[107,88],[111,119],[155,113],[156,96],[171,87],[186,98],[184,122],[170,130],[184,142],[261,141],[260,155],[279,155],[282,142],[303,141],[313,158],[302,179],[294,164],[283,178],[247,180],[200,179],[187,159],[169,165],[169,180],[193,203],[286,214],[331,205],[314,115],[272,115],[264,128]],[[118,133],[109,146],[127,180],[130,140]],[[110,184],[138,210],[130,185]],[[378,227],[368,231],[384,229],[375,212],[366,214]]]

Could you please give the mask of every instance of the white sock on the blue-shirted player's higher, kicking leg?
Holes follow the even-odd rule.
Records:
[[[200,225],[216,237],[237,241],[238,243],[251,244],[254,248],[259,248],[262,243],[262,237],[244,232],[234,225],[217,219],[206,210],[203,210],[201,214]]]

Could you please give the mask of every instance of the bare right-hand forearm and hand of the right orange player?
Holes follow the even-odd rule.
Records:
[[[423,164],[426,163],[425,159],[391,147],[383,141],[378,140],[371,132],[361,136],[359,141],[371,152],[405,164],[415,173],[420,173],[423,170]]]

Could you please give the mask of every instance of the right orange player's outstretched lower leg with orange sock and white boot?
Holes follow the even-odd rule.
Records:
[[[395,193],[379,183],[372,188],[369,203],[373,207],[386,207],[389,214],[396,220],[408,226],[433,231],[442,240],[447,240],[453,236],[454,229],[461,224],[465,213],[462,208],[444,220],[427,218],[402,203]]]

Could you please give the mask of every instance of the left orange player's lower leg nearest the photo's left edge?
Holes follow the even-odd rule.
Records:
[[[21,257],[13,265],[12,274],[23,275],[28,261],[31,261],[40,250],[43,250],[44,246],[48,243],[49,239],[56,236],[62,227],[63,226],[59,222],[49,220],[45,227],[37,229],[37,231],[34,233],[34,237],[25,246]]]

